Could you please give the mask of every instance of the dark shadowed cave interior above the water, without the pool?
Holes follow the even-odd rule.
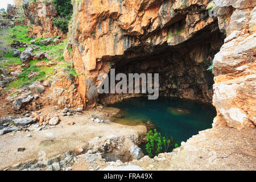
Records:
[[[185,98],[212,104],[214,76],[208,68],[222,44],[222,34],[214,31],[177,46],[156,46],[151,53],[145,51],[143,46],[133,48],[125,53],[125,58],[112,60],[110,65],[115,69],[115,75],[125,73],[127,78],[129,73],[159,73],[159,97]],[[147,94],[100,94],[99,102],[107,105],[143,96]]]

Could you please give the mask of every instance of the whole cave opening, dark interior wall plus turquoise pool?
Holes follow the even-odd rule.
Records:
[[[148,100],[147,94],[100,94],[100,104],[121,109],[114,122],[144,124],[148,130],[155,127],[180,145],[212,127],[216,109],[212,106],[214,76],[209,67],[224,38],[218,28],[208,29],[176,46],[165,43],[129,49],[123,59],[111,60],[115,74],[159,73],[158,100]]]

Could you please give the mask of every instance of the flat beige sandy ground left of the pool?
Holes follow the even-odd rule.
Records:
[[[60,117],[60,123],[49,130],[2,135],[0,137],[0,169],[39,159],[42,156],[50,159],[65,151],[74,150],[77,146],[86,147],[95,137],[104,138],[110,135],[123,137],[146,132],[145,126],[93,123],[87,114],[72,118]],[[75,125],[67,125],[71,120]],[[32,137],[26,137],[28,133],[31,133]],[[18,147],[25,147],[26,150],[18,152]]]

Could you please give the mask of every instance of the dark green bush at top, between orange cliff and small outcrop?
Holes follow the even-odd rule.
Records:
[[[55,9],[59,16],[52,20],[53,24],[64,33],[68,32],[69,20],[72,18],[73,5],[71,0],[53,0]]]

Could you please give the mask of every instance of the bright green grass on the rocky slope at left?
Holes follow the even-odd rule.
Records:
[[[7,63],[1,63],[0,68],[6,68],[10,71],[10,66],[15,67],[15,65],[23,65],[22,61],[20,61],[19,57],[13,56],[13,50],[10,48],[10,44],[14,42],[14,40],[18,40],[19,42],[28,43],[30,44],[30,41],[32,38],[28,37],[27,34],[28,27],[27,26],[15,26],[13,28],[7,28],[0,32],[0,56],[2,55],[5,57],[6,60],[8,60]],[[53,37],[53,39],[56,37]],[[46,51],[50,56],[53,57],[57,61],[56,66],[47,67],[46,64],[39,67],[38,63],[40,63],[40,60],[31,60],[28,64],[30,64],[30,67],[23,67],[22,73],[20,73],[17,76],[17,79],[13,82],[10,82],[10,84],[6,85],[7,90],[20,88],[24,85],[30,85],[34,81],[42,81],[42,80],[51,80],[51,76],[54,73],[54,68],[71,68],[71,63],[64,61],[63,52],[65,49],[65,44],[59,44],[57,46],[43,46],[40,44],[41,40],[44,40],[46,38],[38,38],[35,39],[36,46],[39,47],[38,50],[34,50],[34,54]],[[1,52],[1,47],[3,47]],[[24,47],[19,48],[20,51],[24,51]],[[43,60],[46,63],[48,63],[50,60],[44,58]],[[34,78],[28,78],[28,76],[31,74],[31,72],[35,72],[36,76]],[[67,75],[72,75],[73,77],[78,76],[75,72],[75,69],[69,69],[69,72],[67,72]]]

